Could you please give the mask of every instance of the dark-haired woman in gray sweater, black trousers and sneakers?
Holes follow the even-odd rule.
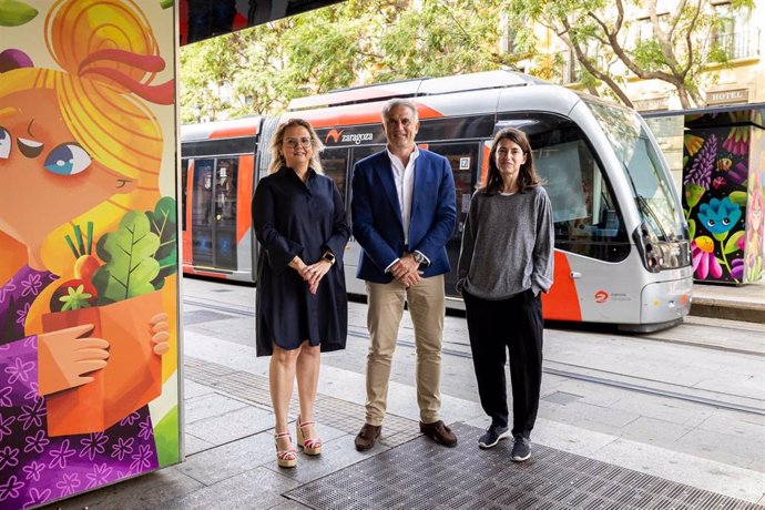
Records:
[[[542,381],[541,293],[552,285],[552,207],[534,171],[529,140],[507,128],[494,135],[487,181],[470,202],[457,289],[465,298],[481,406],[491,418],[478,445],[491,448],[512,434],[514,461],[531,457],[529,438]]]

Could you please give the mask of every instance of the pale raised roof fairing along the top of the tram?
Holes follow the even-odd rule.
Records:
[[[516,71],[484,71],[456,76],[419,78],[416,80],[337,90],[326,94],[294,99],[289,102],[287,110],[298,111],[385,101],[391,98],[418,98],[452,92],[540,84],[549,85],[550,83]]]

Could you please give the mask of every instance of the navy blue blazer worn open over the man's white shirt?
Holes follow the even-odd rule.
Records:
[[[415,188],[409,220],[409,252],[419,251],[430,265],[424,277],[448,273],[446,244],[457,221],[455,177],[446,157],[419,150],[415,160]],[[404,221],[387,151],[356,163],[353,176],[350,218],[354,237],[361,245],[356,276],[367,282],[387,284],[394,276],[385,273],[404,255]]]

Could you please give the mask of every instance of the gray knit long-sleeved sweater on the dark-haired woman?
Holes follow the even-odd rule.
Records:
[[[506,299],[552,285],[552,206],[542,186],[492,196],[476,192],[462,232],[457,290]]]

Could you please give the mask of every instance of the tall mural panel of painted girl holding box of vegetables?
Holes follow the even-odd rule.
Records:
[[[174,12],[14,1],[0,26],[0,509],[17,509],[178,461]]]

